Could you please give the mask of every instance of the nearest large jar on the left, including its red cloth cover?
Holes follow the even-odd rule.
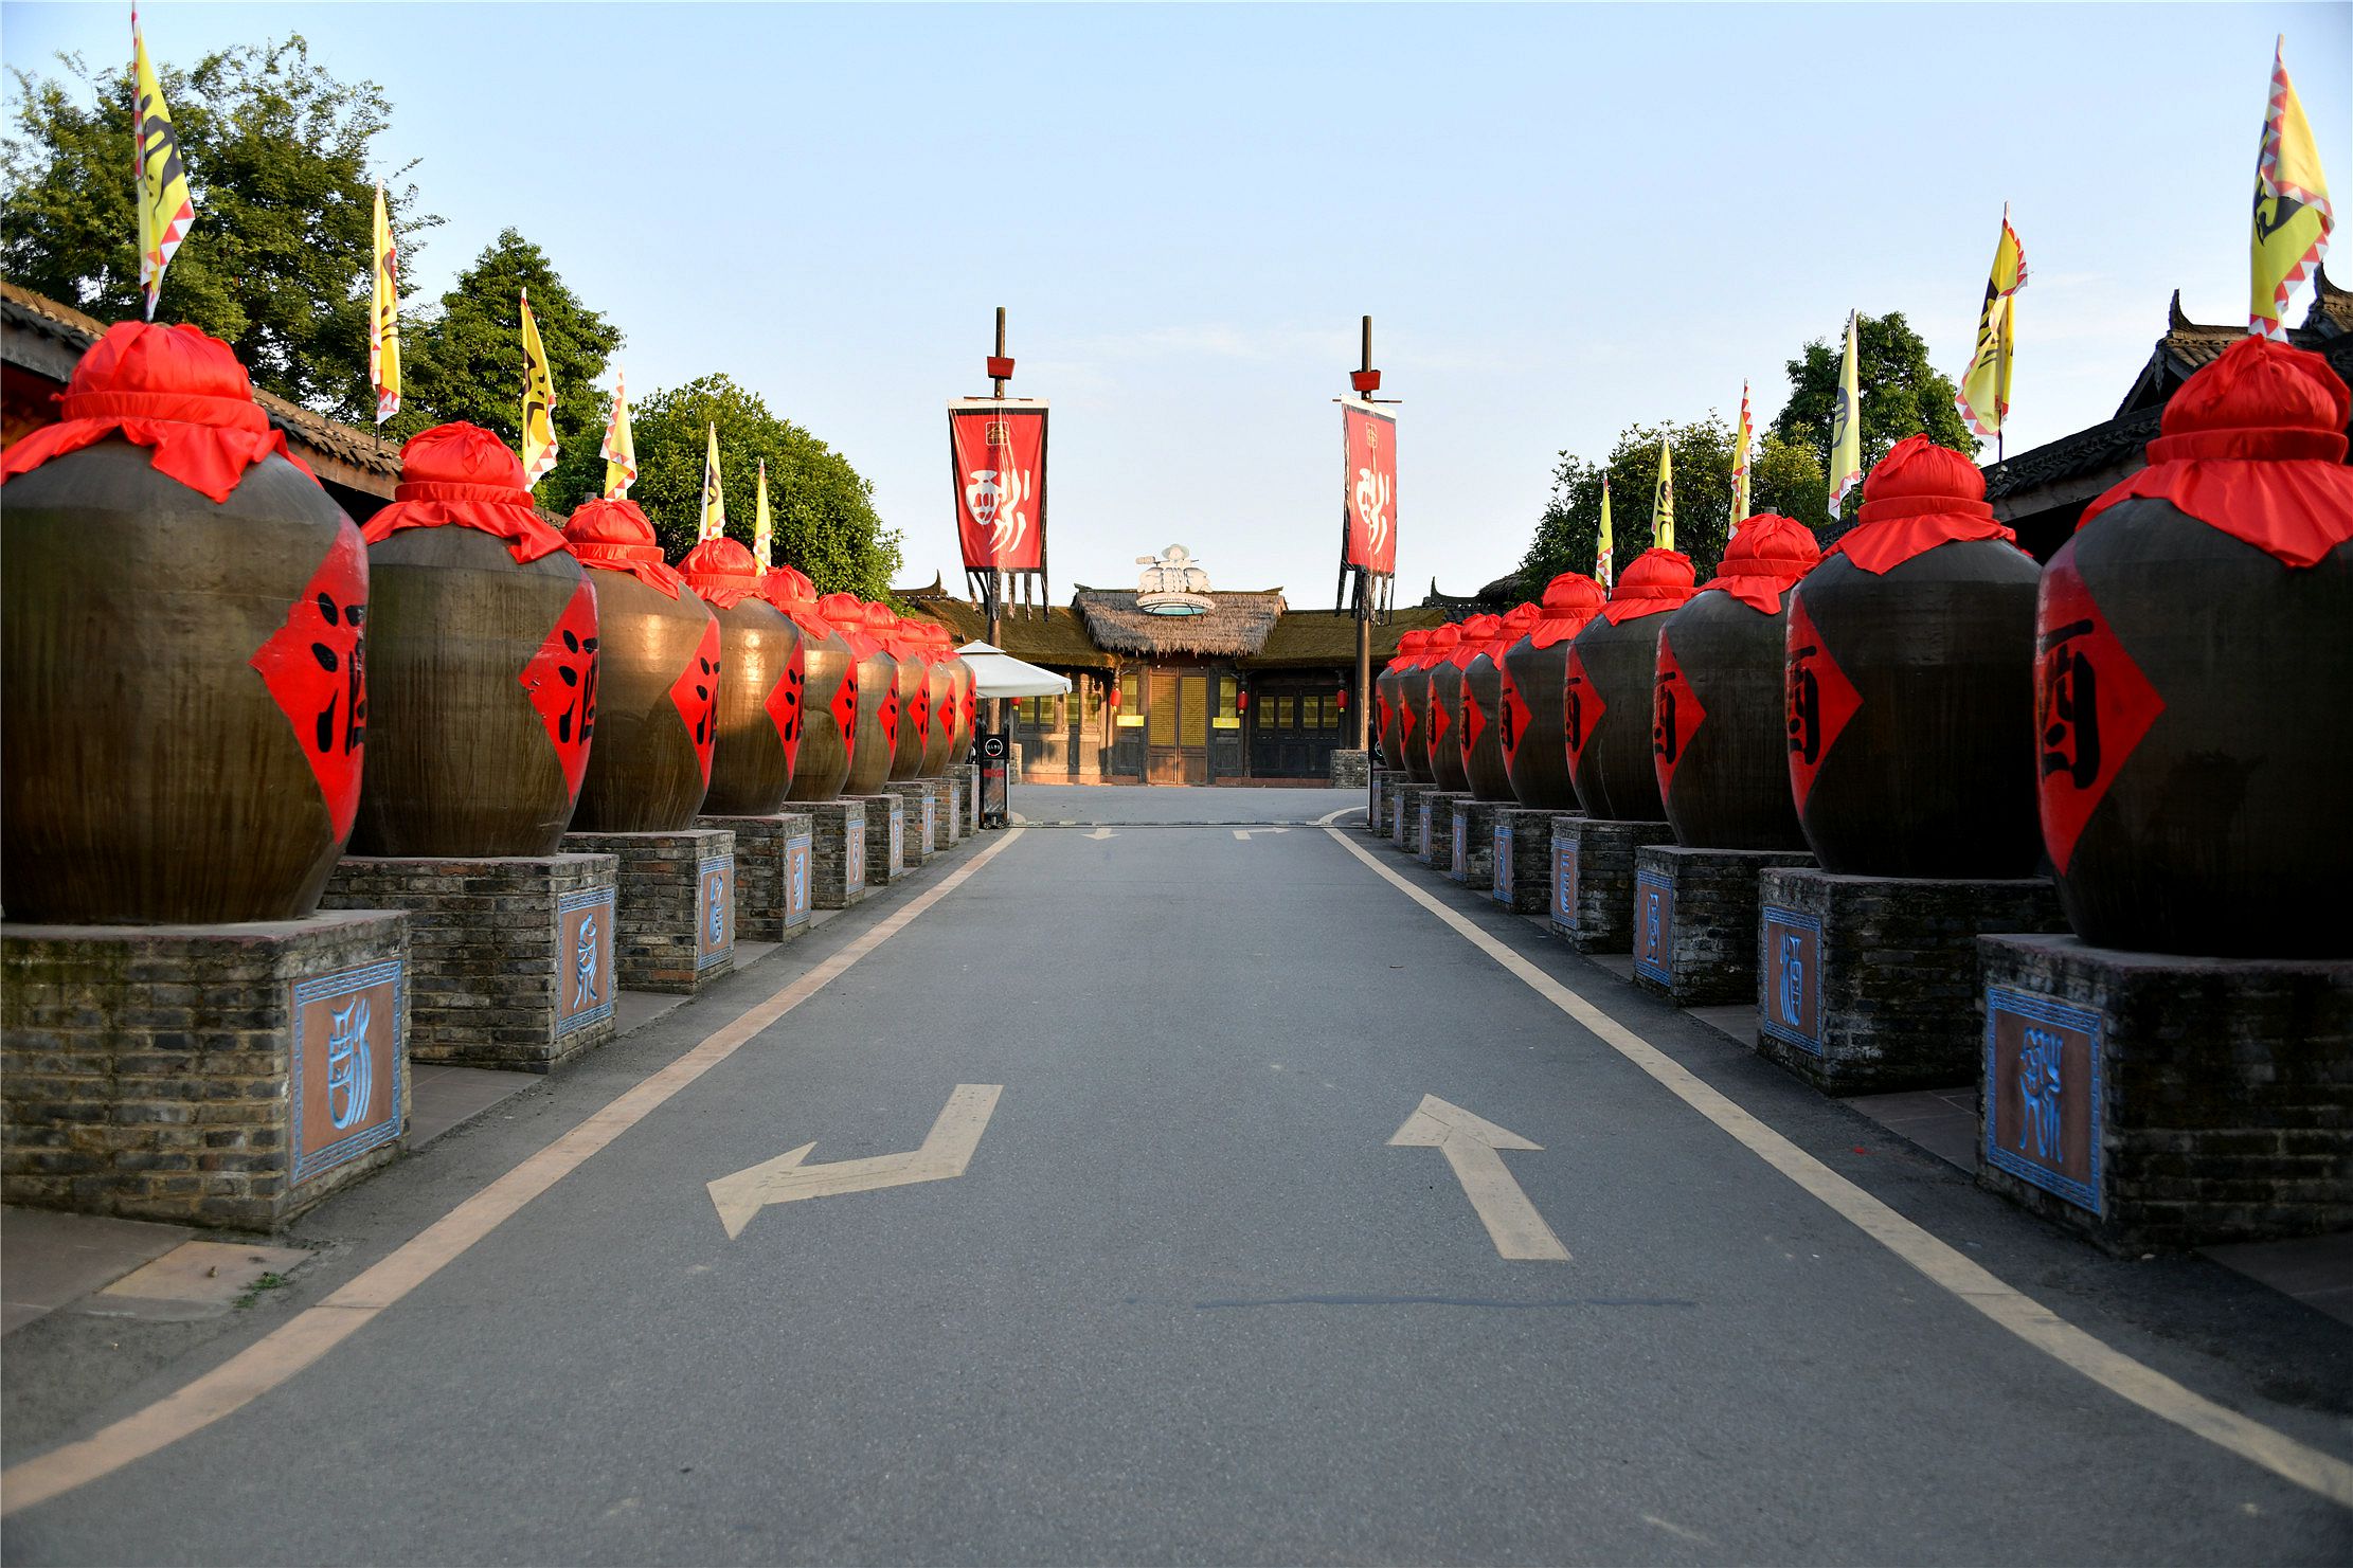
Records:
[[[318,907],[367,733],[367,550],[195,327],[120,322],[0,458],[12,919]]]

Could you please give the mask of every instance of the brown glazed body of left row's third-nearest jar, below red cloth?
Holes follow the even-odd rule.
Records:
[[[694,670],[713,625],[711,607],[692,588],[673,599],[605,567],[588,567],[588,581],[595,583],[602,672],[595,745],[572,832],[680,832],[694,825],[706,792],[687,715],[711,724],[718,698],[718,670]],[[694,679],[680,686],[685,677]]]

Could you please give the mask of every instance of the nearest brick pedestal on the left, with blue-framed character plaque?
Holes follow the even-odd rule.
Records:
[[[398,910],[0,926],[0,1199],[278,1229],[400,1154]]]

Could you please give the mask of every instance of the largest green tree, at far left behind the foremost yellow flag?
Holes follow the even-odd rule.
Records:
[[[59,63],[80,89],[14,71],[16,113],[0,139],[0,270],[99,320],[136,320],[139,216],[132,200],[132,73]],[[374,82],[341,82],[301,35],[242,45],[191,71],[160,68],[188,165],[195,226],[165,273],[155,317],[193,322],[238,350],[254,383],[320,414],[374,418],[367,301],[374,233],[369,146],[393,106]],[[416,188],[384,200],[414,268],[440,223]]]

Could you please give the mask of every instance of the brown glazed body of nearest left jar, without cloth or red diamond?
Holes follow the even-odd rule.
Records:
[[[341,508],[282,456],[216,505],[120,437],[0,496],[9,919],[311,914],[344,844],[252,658],[351,529]]]

